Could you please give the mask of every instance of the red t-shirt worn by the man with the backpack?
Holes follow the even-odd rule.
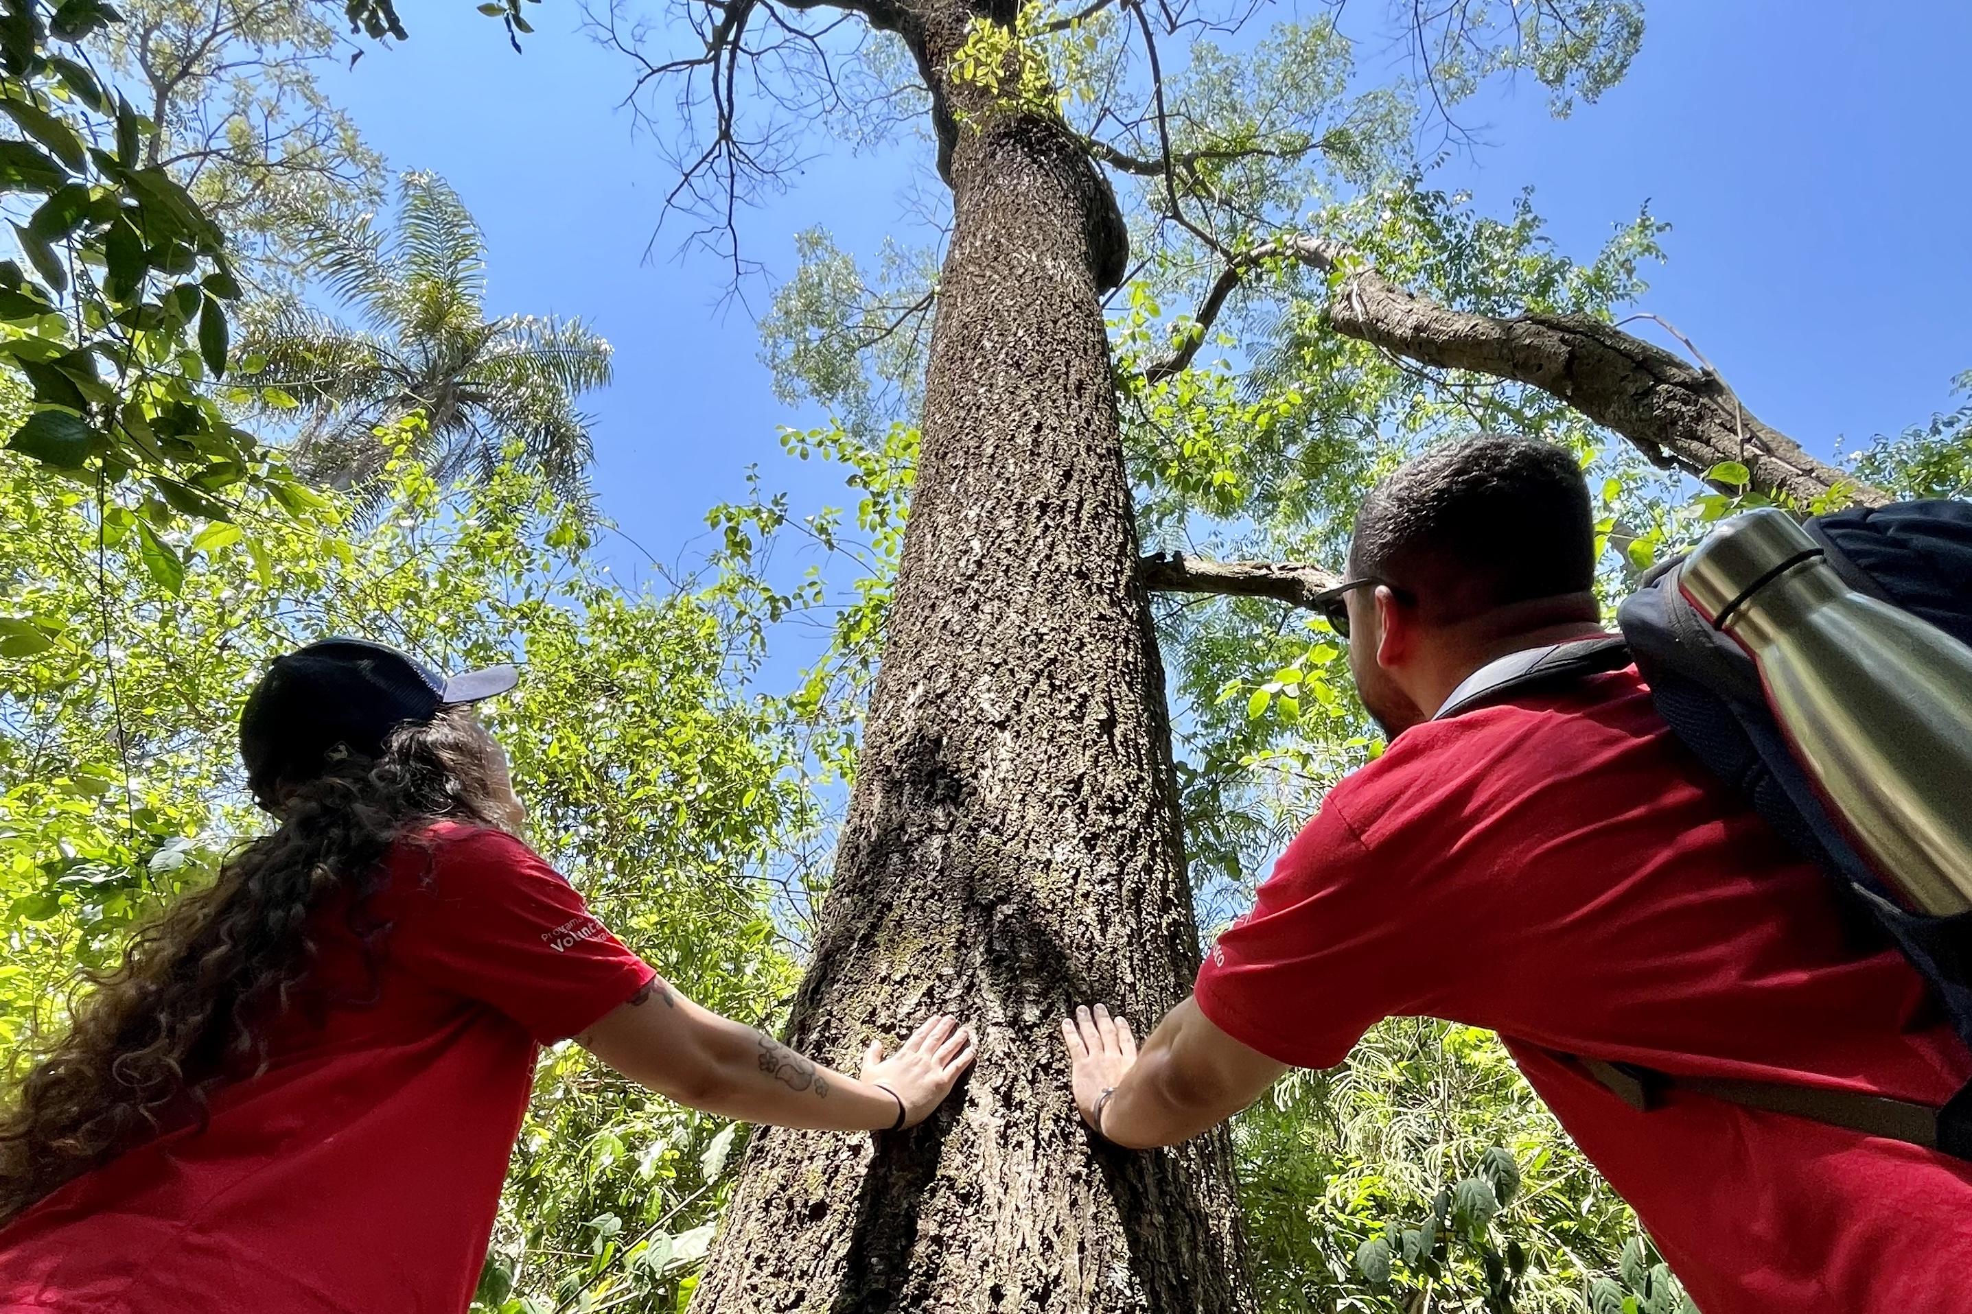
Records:
[[[1384,1017],[1499,1030],[1706,1314],[1972,1310],[1972,1164],[1718,1099],[1639,1113],[1544,1050],[1942,1103],[1972,1058],[1893,950],[1672,739],[1635,670],[1404,731],[1197,983],[1339,1064]]]

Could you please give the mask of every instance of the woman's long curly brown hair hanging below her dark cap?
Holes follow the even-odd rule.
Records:
[[[388,926],[365,916],[392,845],[434,820],[507,827],[505,758],[465,707],[392,731],[377,756],[349,755],[284,780],[280,827],[217,881],[138,930],[122,963],[0,1111],[0,1225],[181,1119],[266,1062],[266,1026],[292,1007],[316,957],[312,918],[347,892],[349,930],[375,953]]]

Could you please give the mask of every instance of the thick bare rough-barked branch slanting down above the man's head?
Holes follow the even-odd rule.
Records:
[[[1185,368],[1231,292],[1272,256],[1290,256],[1331,272],[1343,252],[1309,236],[1286,236],[1236,256],[1199,307],[1197,327],[1179,351],[1152,364],[1158,382]],[[1664,469],[1700,479],[1737,461],[1749,487],[1808,504],[1828,498],[1881,506],[1889,494],[1818,461],[1787,433],[1753,418],[1708,366],[1585,315],[1475,315],[1398,288],[1374,270],[1351,274],[1329,297],[1329,325],[1345,337],[1451,370],[1532,384],[1589,420],[1621,433]],[[1733,493],[1737,489],[1724,487]]]

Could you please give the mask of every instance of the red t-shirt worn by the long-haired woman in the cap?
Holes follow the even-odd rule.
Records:
[[[511,835],[444,823],[371,900],[375,1003],[294,1011],[270,1068],[0,1231],[0,1310],[459,1314],[521,1131],[536,1046],[653,979]],[[361,942],[317,914],[312,977],[369,999]]]

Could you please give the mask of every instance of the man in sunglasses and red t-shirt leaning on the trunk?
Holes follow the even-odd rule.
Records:
[[[1390,747],[1142,1050],[1100,1005],[1063,1022],[1077,1107],[1173,1145],[1386,1017],[1487,1026],[1706,1314],[1972,1310],[1972,1162],[1716,1093],[1944,1103],[1972,1058],[1917,971],[1846,934],[1633,666],[1461,707],[1475,672],[1603,632],[1593,558],[1587,487],[1546,443],[1438,447],[1371,493],[1319,603]],[[1633,1070],[1678,1082],[1643,1111],[1597,1080]]]

